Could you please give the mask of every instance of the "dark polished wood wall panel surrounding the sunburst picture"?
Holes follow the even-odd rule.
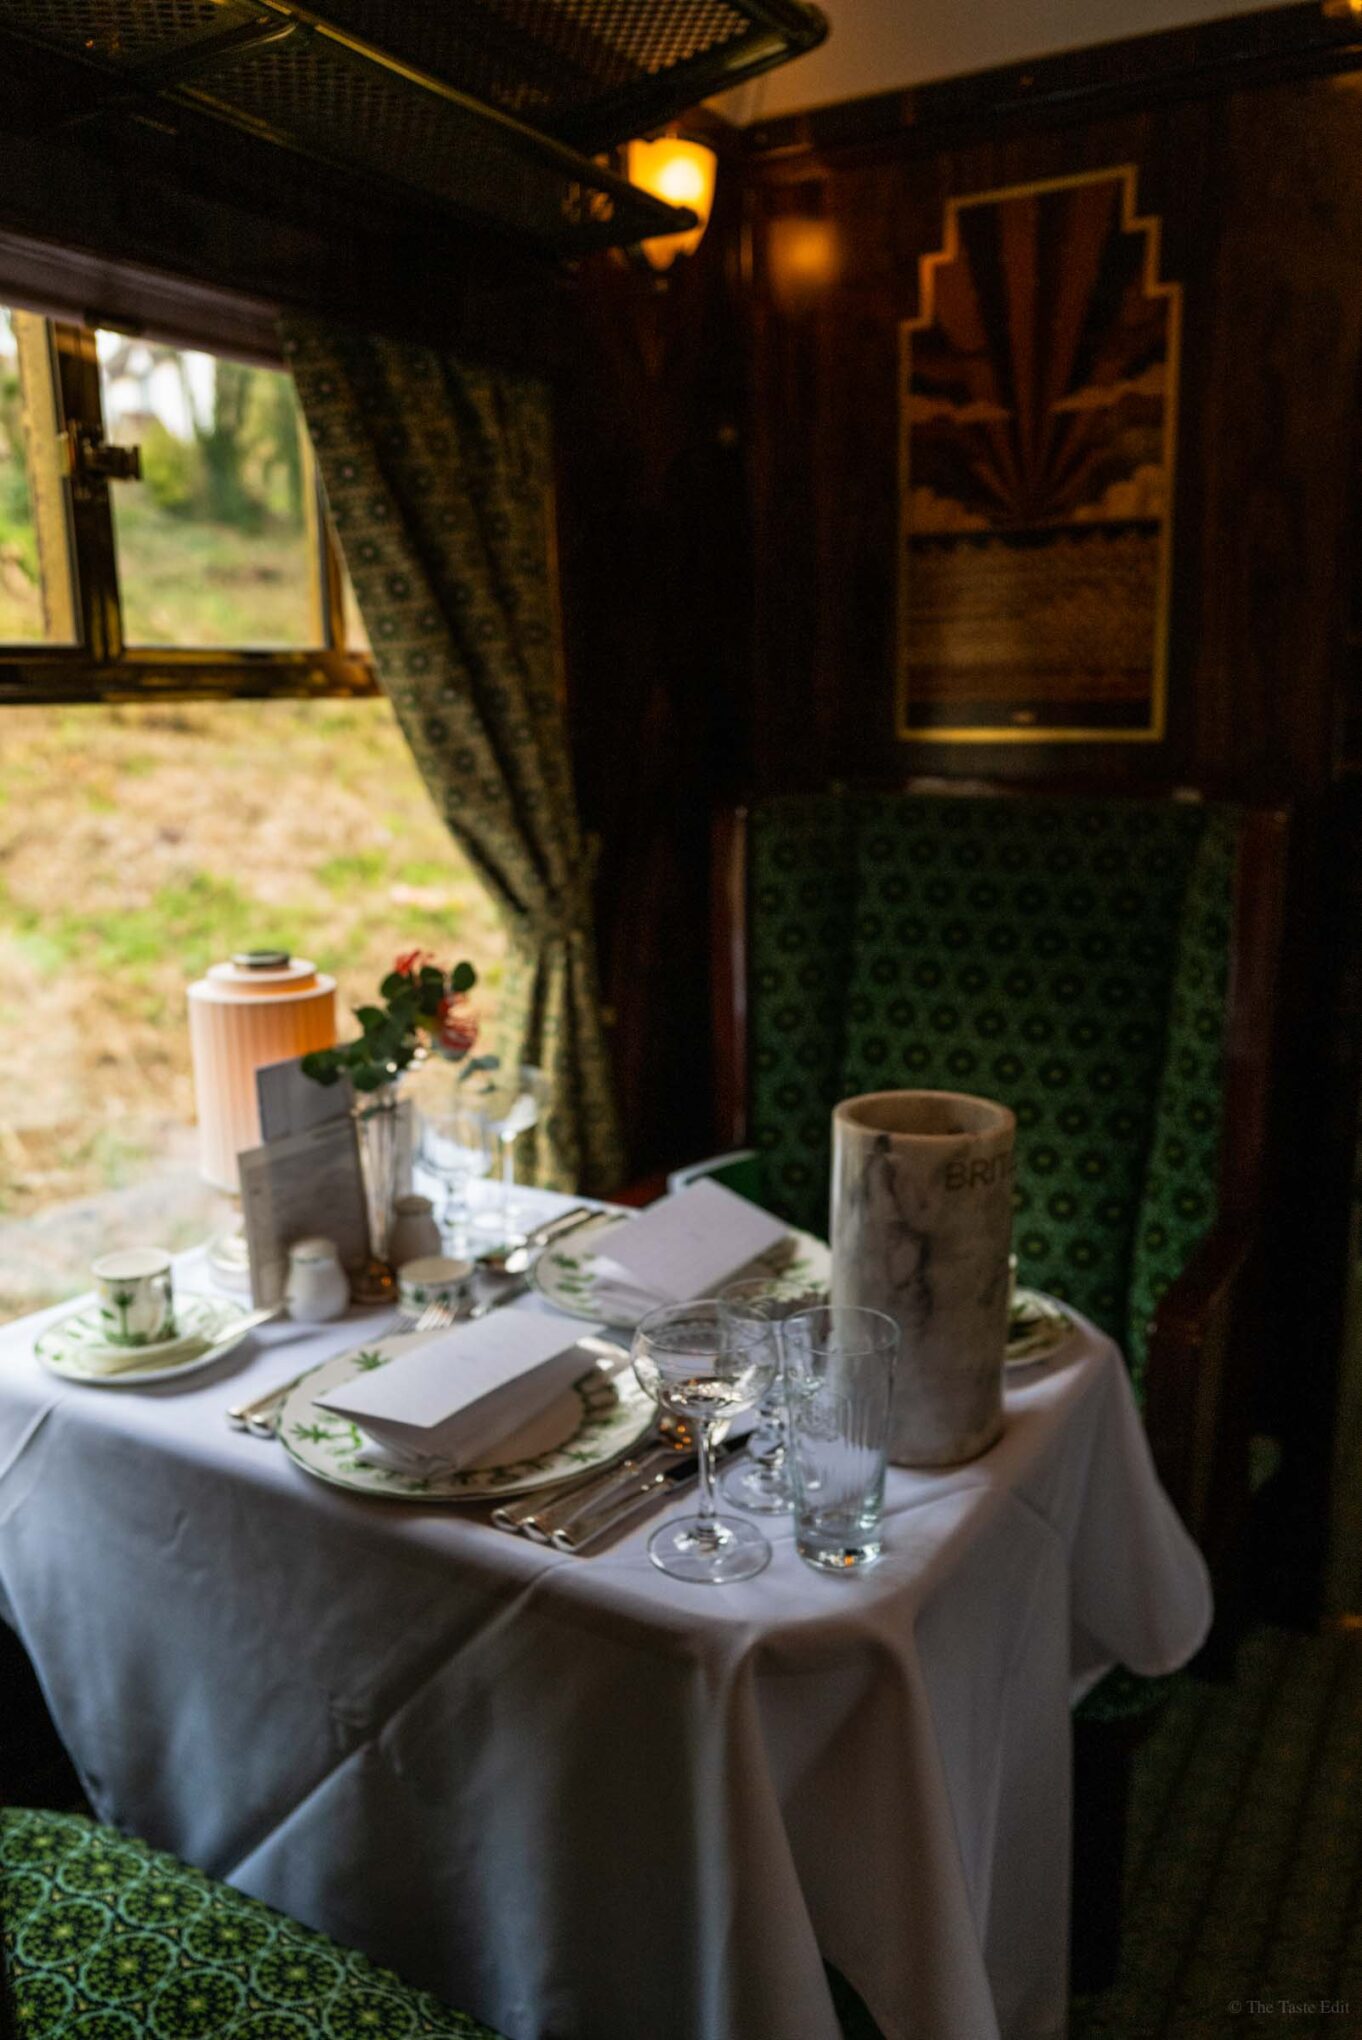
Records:
[[[1162,745],[920,745],[893,734],[897,326],[944,202],[1140,169],[1185,290],[1170,728]],[[924,153],[915,141],[758,159],[750,184],[756,767],[1319,787],[1362,318],[1354,78],[1185,98]],[[781,302],[773,237],[820,220],[840,273]],[[809,745],[816,734],[816,747]]]

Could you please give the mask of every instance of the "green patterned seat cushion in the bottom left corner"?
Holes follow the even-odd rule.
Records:
[[[0,1812],[22,2040],[495,2040],[367,1956],[77,1814]]]

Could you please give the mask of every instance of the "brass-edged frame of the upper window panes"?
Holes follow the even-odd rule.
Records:
[[[29,377],[45,335],[47,373],[63,449],[67,571],[75,620],[75,643],[0,643],[0,706],[65,706],[80,702],[222,702],[222,700],[310,700],[381,694],[373,659],[351,649],[345,639],[345,569],[336,545],[320,475],[306,445],[312,481],[312,537],[316,547],[314,604],[322,643],[314,649],[214,649],[126,645],[110,486],[128,486],[98,469],[104,441],[100,361],[92,326],[39,312],[14,310],[27,339],[20,339],[20,373]],[[139,333],[139,339],[143,335]],[[151,335],[147,335],[151,337]],[[204,349],[212,353],[212,349]],[[230,359],[224,357],[224,359]],[[92,459],[94,455],[94,459]],[[137,486],[137,483],[130,483]],[[35,506],[35,518],[39,510]],[[49,526],[51,543],[51,526]],[[43,604],[49,606],[47,565],[41,567]]]

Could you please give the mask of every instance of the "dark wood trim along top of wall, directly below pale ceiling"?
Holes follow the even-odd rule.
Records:
[[[971,137],[1001,141],[1026,126],[1358,67],[1362,20],[1327,18],[1317,0],[1297,0],[761,120],[746,129],[746,143],[763,165],[885,141],[899,153],[905,143],[926,153]]]

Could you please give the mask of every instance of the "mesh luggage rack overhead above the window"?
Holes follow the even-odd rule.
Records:
[[[803,0],[0,0],[94,112],[155,102],[561,253],[689,224],[591,155],[811,49]]]

